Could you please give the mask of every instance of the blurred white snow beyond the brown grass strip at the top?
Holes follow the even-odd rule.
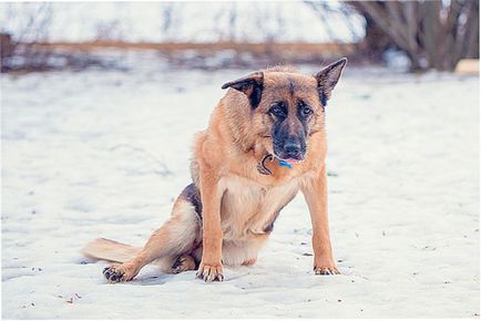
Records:
[[[298,0],[89,1],[53,2],[48,7],[44,3],[0,3],[0,29],[16,37],[24,34],[24,40],[38,40],[40,37],[50,41],[71,42],[96,39],[132,42],[352,42],[361,39],[365,33],[362,18],[347,18],[336,11],[338,6],[337,1],[328,4],[332,11],[326,21]],[[43,11],[39,11],[39,8]],[[30,17],[37,17],[38,24],[48,18],[48,23],[25,32]]]

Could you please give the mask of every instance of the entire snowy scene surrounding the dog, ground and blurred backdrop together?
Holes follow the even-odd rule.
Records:
[[[479,1],[2,2],[0,39],[3,319],[479,318]],[[80,249],[170,217],[223,83],[341,56],[342,276],[315,278],[299,195],[223,284],[155,267],[105,284]]]

